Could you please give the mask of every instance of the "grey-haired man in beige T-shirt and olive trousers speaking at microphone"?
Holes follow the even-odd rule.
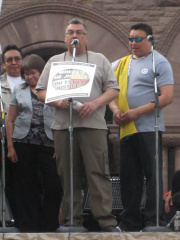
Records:
[[[73,45],[76,45],[77,62],[96,64],[91,94],[87,98],[76,98],[82,103],[78,111],[73,109],[73,226],[82,226],[82,178],[85,169],[92,213],[102,231],[118,232],[112,211],[112,185],[109,176],[107,126],[104,120],[105,106],[118,96],[118,84],[108,60],[99,53],[87,51],[87,28],[83,21],[72,19],[65,32],[68,51],[52,57],[37,84],[38,98],[45,100],[49,71],[52,62],[72,61]],[[69,226],[70,207],[70,142],[69,101],[58,100],[54,106],[55,152],[58,172],[63,178],[64,198],[61,219]]]

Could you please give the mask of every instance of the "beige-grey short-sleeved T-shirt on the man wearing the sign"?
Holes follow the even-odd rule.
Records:
[[[69,53],[63,53],[52,57],[46,64],[36,89],[47,89],[49,72],[52,62],[72,61]],[[109,61],[100,53],[88,51],[87,54],[77,55],[77,62],[88,62],[96,64],[95,76],[92,84],[91,94],[89,97],[75,98],[75,100],[84,103],[92,101],[101,96],[106,90],[113,88],[118,89],[116,77]],[[100,107],[91,114],[88,119],[79,117],[78,112],[73,109],[73,127],[85,127],[95,129],[107,129],[104,119],[106,107]],[[60,109],[55,107],[54,122],[52,129],[62,130],[69,128],[69,109]]]

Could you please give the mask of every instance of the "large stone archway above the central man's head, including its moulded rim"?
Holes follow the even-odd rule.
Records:
[[[129,53],[128,32],[117,21],[96,9],[62,2],[33,1],[5,13],[0,22],[2,47],[15,43],[21,48],[28,46],[32,52],[34,43],[63,43],[64,29],[72,17],[85,21],[88,49],[103,53],[110,61]]]

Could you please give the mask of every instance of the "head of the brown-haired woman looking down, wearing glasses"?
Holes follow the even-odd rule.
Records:
[[[26,83],[35,87],[44,69],[45,61],[36,54],[27,55],[22,62],[22,74]]]

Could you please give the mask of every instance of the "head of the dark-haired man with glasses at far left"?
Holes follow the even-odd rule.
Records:
[[[11,77],[21,76],[22,52],[16,45],[7,45],[2,52],[2,64]]]

